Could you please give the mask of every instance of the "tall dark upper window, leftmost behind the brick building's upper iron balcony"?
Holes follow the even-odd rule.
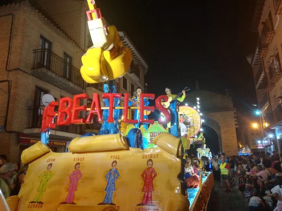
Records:
[[[40,36],[40,56],[38,63],[41,67],[50,68],[51,42],[43,36]]]

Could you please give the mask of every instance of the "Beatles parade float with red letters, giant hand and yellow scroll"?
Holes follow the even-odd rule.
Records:
[[[131,51],[122,45],[116,28],[106,26],[95,2],[88,0],[88,5],[93,46],[82,56],[80,72],[87,83],[105,82],[104,107],[98,93],[90,96],[90,108],[80,104],[89,99],[85,93],[50,102],[43,110],[41,141],[21,155],[22,163],[29,163],[21,190],[1,200],[1,210],[205,210],[213,176],[200,175],[199,185],[190,191],[183,165],[184,150],[201,127],[199,112],[177,106],[185,92],[157,97],[139,93],[132,99],[129,93],[116,93],[115,79],[128,70]],[[119,105],[121,99],[128,103]],[[155,106],[149,106],[149,99]],[[147,112],[156,109],[162,117],[147,118]],[[79,112],[88,115],[79,118]],[[74,138],[66,153],[54,153],[47,146],[56,125],[91,124],[94,115],[101,124],[98,135]],[[121,122],[128,124],[122,132]]]

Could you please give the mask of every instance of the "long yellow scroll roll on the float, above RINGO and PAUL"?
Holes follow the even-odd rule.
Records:
[[[96,152],[109,150],[125,150],[128,145],[122,134],[107,134],[75,138],[70,142],[69,152]]]

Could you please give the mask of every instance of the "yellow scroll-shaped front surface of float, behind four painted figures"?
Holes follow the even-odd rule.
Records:
[[[181,165],[179,159],[181,140],[170,134],[160,134],[154,140],[154,143],[158,144],[155,148],[142,150],[128,147],[122,149],[121,147],[117,150],[111,147],[113,140],[121,142],[119,146],[127,145],[118,135],[96,137],[95,139],[93,137],[74,139],[70,144],[70,149],[76,149],[73,150],[76,153],[49,151],[33,159],[29,163],[24,184],[19,193],[17,210],[189,210],[189,201],[181,194],[180,180],[177,178]],[[97,145],[95,140],[100,143]],[[100,151],[102,142],[104,151]],[[41,144],[38,142],[33,146]],[[82,145],[84,146],[81,147]],[[96,146],[98,146],[97,150],[95,150]],[[27,157],[26,154],[30,153],[31,147],[24,151],[23,157]],[[92,152],[83,152],[87,149],[91,149]],[[40,148],[38,150],[41,151]],[[144,181],[141,175],[148,168],[148,159],[152,159],[151,168],[154,168],[157,174],[153,180],[152,204],[151,206],[137,206],[142,202],[144,196],[142,191]],[[112,169],[113,161],[116,161],[115,169],[119,174],[115,180],[115,191],[112,197],[112,203],[115,205],[98,205],[103,202],[106,194],[105,175],[109,171],[115,171]],[[51,168],[50,163],[52,163]],[[78,167],[77,163],[79,163],[79,170],[75,170],[75,165]],[[47,169],[48,165],[50,169]],[[73,172],[76,172],[77,175],[79,175],[78,172],[81,173],[81,178],[76,183],[76,191],[73,191],[73,203],[76,204],[60,204],[73,190],[68,189],[70,187],[69,176]],[[38,194],[42,196],[39,201],[42,203],[30,203],[34,202]]]

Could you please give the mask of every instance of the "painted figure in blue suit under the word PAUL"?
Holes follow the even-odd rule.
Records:
[[[104,204],[109,204],[109,205],[116,205],[113,203],[113,191],[115,191],[115,181],[119,177],[118,169],[115,168],[117,165],[117,161],[114,160],[112,162],[112,169],[109,170],[109,172],[106,174],[106,181],[107,185],[105,188],[105,198],[103,202],[99,203],[98,205],[104,205]]]

